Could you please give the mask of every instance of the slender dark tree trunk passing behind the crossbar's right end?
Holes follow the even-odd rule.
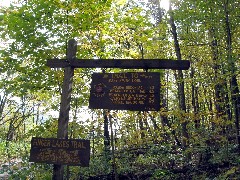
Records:
[[[179,46],[179,42],[178,42],[178,34],[177,34],[177,29],[176,29],[176,25],[174,22],[174,18],[173,18],[173,12],[172,12],[172,7],[171,7],[171,1],[170,1],[170,6],[169,6],[169,12],[170,12],[170,25],[171,25],[171,29],[172,29],[172,35],[173,35],[173,39],[174,39],[174,47],[175,47],[175,53],[177,56],[177,60],[181,61],[182,57],[181,57],[181,51],[180,51],[180,46]],[[186,101],[185,101],[185,93],[184,93],[184,80],[183,80],[183,72],[182,70],[178,70],[177,71],[177,85],[178,85],[178,95],[179,95],[179,108],[182,111],[182,113],[186,113]],[[189,135],[188,135],[188,131],[187,131],[187,121],[184,120],[181,123],[182,126],[182,135],[183,135],[183,140],[182,140],[182,145],[183,147],[187,146],[187,141],[189,139]]]

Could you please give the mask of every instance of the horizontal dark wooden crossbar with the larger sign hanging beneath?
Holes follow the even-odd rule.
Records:
[[[50,59],[47,66],[51,68],[120,68],[120,69],[173,69],[187,70],[188,60],[169,59]]]

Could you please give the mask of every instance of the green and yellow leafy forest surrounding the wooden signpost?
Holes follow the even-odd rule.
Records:
[[[56,137],[69,39],[78,59],[189,60],[161,74],[158,112],[88,109],[91,74],[75,69],[69,138],[91,140],[89,167],[68,179],[240,178],[240,1],[16,0],[0,6],[0,164],[11,178],[51,179],[52,165],[29,163],[32,137]],[[104,69],[105,72],[123,72]],[[126,71],[126,70],[125,70]]]

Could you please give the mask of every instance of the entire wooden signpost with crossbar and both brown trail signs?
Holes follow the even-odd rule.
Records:
[[[173,69],[173,70],[187,70],[190,67],[190,62],[187,60],[168,60],[168,59],[76,59],[77,42],[72,39],[68,42],[67,58],[66,59],[51,59],[47,61],[47,66],[51,68],[64,68],[64,80],[61,95],[60,113],[58,120],[58,132],[57,139],[63,144],[71,144],[71,140],[68,139],[68,122],[69,122],[69,110],[71,91],[73,83],[74,68],[121,68],[121,69]],[[120,76],[122,76],[120,78]],[[136,76],[136,77],[134,77]],[[100,77],[98,81],[96,78]],[[121,82],[120,82],[121,81]],[[132,81],[131,83],[127,81]],[[148,83],[149,81],[149,83]],[[104,88],[107,91],[103,91]],[[154,87],[154,89],[152,89]],[[108,103],[104,108],[115,109],[129,109],[129,110],[159,110],[159,76],[156,74],[145,73],[122,73],[118,75],[113,74],[95,74],[93,75],[93,83],[90,98],[90,108],[102,108],[99,103],[96,103],[96,99],[101,98]],[[120,101],[117,102],[120,98]],[[152,99],[154,98],[154,100]],[[154,102],[153,102],[153,101]],[[95,104],[96,103],[96,104]],[[111,105],[111,106],[109,106]],[[55,141],[57,139],[50,140]],[[33,139],[35,142],[37,139]],[[77,140],[74,140],[77,141]],[[51,143],[50,143],[51,144]],[[54,145],[47,147],[40,147],[40,150],[36,150],[37,144],[32,144],[32,159],[37,161],[44,161],[46,158],[46,152],[50,150],[54,151],[52,155],[54,157],[60,153],[60,150],[54,149]],[[35,147],[35,149],[34,149]],[[81,149],[81,148],[80,148]],[[88,148],[86,148],[88,150]],[[61,152],[65,152],[67,157],[73,157],[72,149],[62,148]],[[81,162],[81,150],[79,150],[79,163]],[[90,149],[89,149],[90,151]],[[44,152],[45,155],[40,155]],[[35,154],[36,153],[36,154]],[[44,154],[43,153],[43,154]],[[51,153],[50,153],[51,154]],[[76,158],[77,156],[76,155]],[[41,159],[42,158],[42,159]],[[75,156],[74,158],[75,159]],[[76,159],[75,159],[76,160]],[[75,161],[73,160],[73,161]],[[53,180],[63,180],[64,166],[66,161],[63,159],[51,160],[54,164],[53,168]],[[72,162],[73,163],[73,162]],[[74,164],[74,163],[73,163]]]

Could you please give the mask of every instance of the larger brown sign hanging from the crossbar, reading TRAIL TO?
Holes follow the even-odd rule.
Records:
[[[94,73],[91,109],[158,111],[160,74],[153,72]]]

